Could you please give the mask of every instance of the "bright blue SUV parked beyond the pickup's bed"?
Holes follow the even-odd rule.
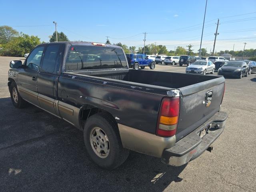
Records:
[[[155,62],[152,59],[148,59],[145,54],[126,54],[129,67],[134,69],[142,68],[149,66],[150,69],[155,68]]]

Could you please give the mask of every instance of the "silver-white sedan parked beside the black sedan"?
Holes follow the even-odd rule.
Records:
[[[214,74],[215,65],[211,61],[200,60],[194,62],[192,65],[186,67],[186,73],[194,74],[204,74],[211,73]]]

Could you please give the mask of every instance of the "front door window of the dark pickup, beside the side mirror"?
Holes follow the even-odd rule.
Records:
[[[28,56],[26,68],[38,70],[42,58],[44,47],[35,48]]]

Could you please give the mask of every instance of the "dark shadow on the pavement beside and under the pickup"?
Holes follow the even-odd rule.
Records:
[[[130,152],[115,170],[103,170],[87,157],[83,134],[67,122],[29,105],[0,99],[1,191],[163,191],[186,165],[169,167]]]

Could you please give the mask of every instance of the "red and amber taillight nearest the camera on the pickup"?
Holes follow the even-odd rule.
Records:
[[[180,98],[165,97],[162,100],[158,114],[156,134],[162,137],[171,137],[176,134],[180,113]]]

